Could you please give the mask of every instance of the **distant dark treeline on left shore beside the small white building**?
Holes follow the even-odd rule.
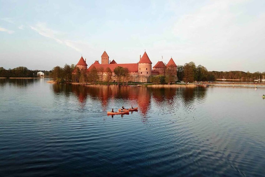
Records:
[[[0,67],[0,77],[37,77],[40,70],[29,70],[27,67],[19,66],[14,69],[4,69]],[[45,75],[49,75],[49,71],[42,71]]]

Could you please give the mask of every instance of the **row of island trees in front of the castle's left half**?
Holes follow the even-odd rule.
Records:
[[[132,79],[128,68],[117,66],[113,72],[115,75],[112,75],[112,71],[109,67],[106,69],[103,67],[99,69],[93,67],[88,71],[80,70],[79,67],[76,67],[74,64],[71,66],[65,64],[63,68],[60,66],[54,67],[50,76],[58,83],[75,82],[107,85],[114,81],[113,79],[116,80],[118,85],[127,85],[128,81]]]

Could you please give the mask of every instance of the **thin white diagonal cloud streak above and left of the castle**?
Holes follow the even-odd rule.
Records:
[[[81,43],[83,43],[83,42],[72,41],[72,40],[67,40],[67,39],[59,39],[58,35],[62,34],[62,32],[47,28],[46,23],[37,23],[35,26],[30,26],[30,28],[37,31],[38,34],[40,34],[44,37],[54,39],[59,44],[64,44],[64,45],[66,45],[72,49],[75,49],[78,52],[82,51],[79,48],[79,45],[81,45]]]

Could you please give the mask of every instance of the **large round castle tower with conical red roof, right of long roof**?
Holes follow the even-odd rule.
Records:
[[[150,61],[146,52],[138,62],[138,74],[140,76],[140,82],[148,82],[152,73],[152,62]]]

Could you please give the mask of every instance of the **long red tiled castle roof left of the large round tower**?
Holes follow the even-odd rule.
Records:
[[[99,69],[100,67],[104,68],[104,70],[106,70],[107,67],[110,68],[110,70],[113,72],[113,70],[117,67],[117,66],[121,66],[123,68],[128,68],[129,72],[138,72],[138,64],[137,63],[128,63],[128,64],[103,64],[103,65],[91,65],[89,66],[89,68],[87,69],[88,71],[91,70],[93,68],[93,66],[95,66],[96,69]]]

